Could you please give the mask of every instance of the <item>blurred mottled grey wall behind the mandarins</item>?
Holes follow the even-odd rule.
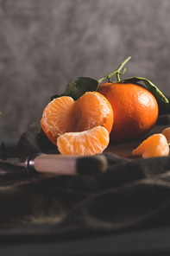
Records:
[[[170,94],[169,0],[0,0],[0,140],[39,126],[51,95],[100,79],[129,55],[126,77]]]

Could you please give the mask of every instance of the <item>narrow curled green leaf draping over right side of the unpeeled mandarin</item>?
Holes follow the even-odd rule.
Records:
[[[167,107],[167,109],[170,109],[170,104],[166,96],[163,93],[161,93],[161,91],[156,86],[154,86],[154,84],[151,81],[142,77],[130,77],[130,78],[121,80],[121,82],[128,82],[128,83],[134,83],[134,84],[140,81],[142,81],[148,87],[148,90],[150,91],[150,93],[154,95],[155,99],[157,99],[157,101],[160,102],[162,106],[165,106]]]

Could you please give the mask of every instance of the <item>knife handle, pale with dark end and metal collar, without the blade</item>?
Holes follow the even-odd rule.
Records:
[[[107,169],[107,159],[101,154],[90,157],[39,154],[28,157],[27,166],[33,172],[91,176]]]

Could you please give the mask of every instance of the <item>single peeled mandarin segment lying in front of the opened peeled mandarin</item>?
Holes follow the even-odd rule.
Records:
[[[102,153],[109,141],[109,132],[98,126],[88,131],[64,133],[57,138],[57,146],[62,155],[91,156]]]

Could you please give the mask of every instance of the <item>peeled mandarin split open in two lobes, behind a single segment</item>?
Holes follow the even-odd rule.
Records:
[[[66,132],[90,130],[104,126],[110,133],[113,111],[110,102],[97,92],[87,92],[74,101],[69,96],[48,103],[41,118],[42,130],[55,145],[57,138]]]

